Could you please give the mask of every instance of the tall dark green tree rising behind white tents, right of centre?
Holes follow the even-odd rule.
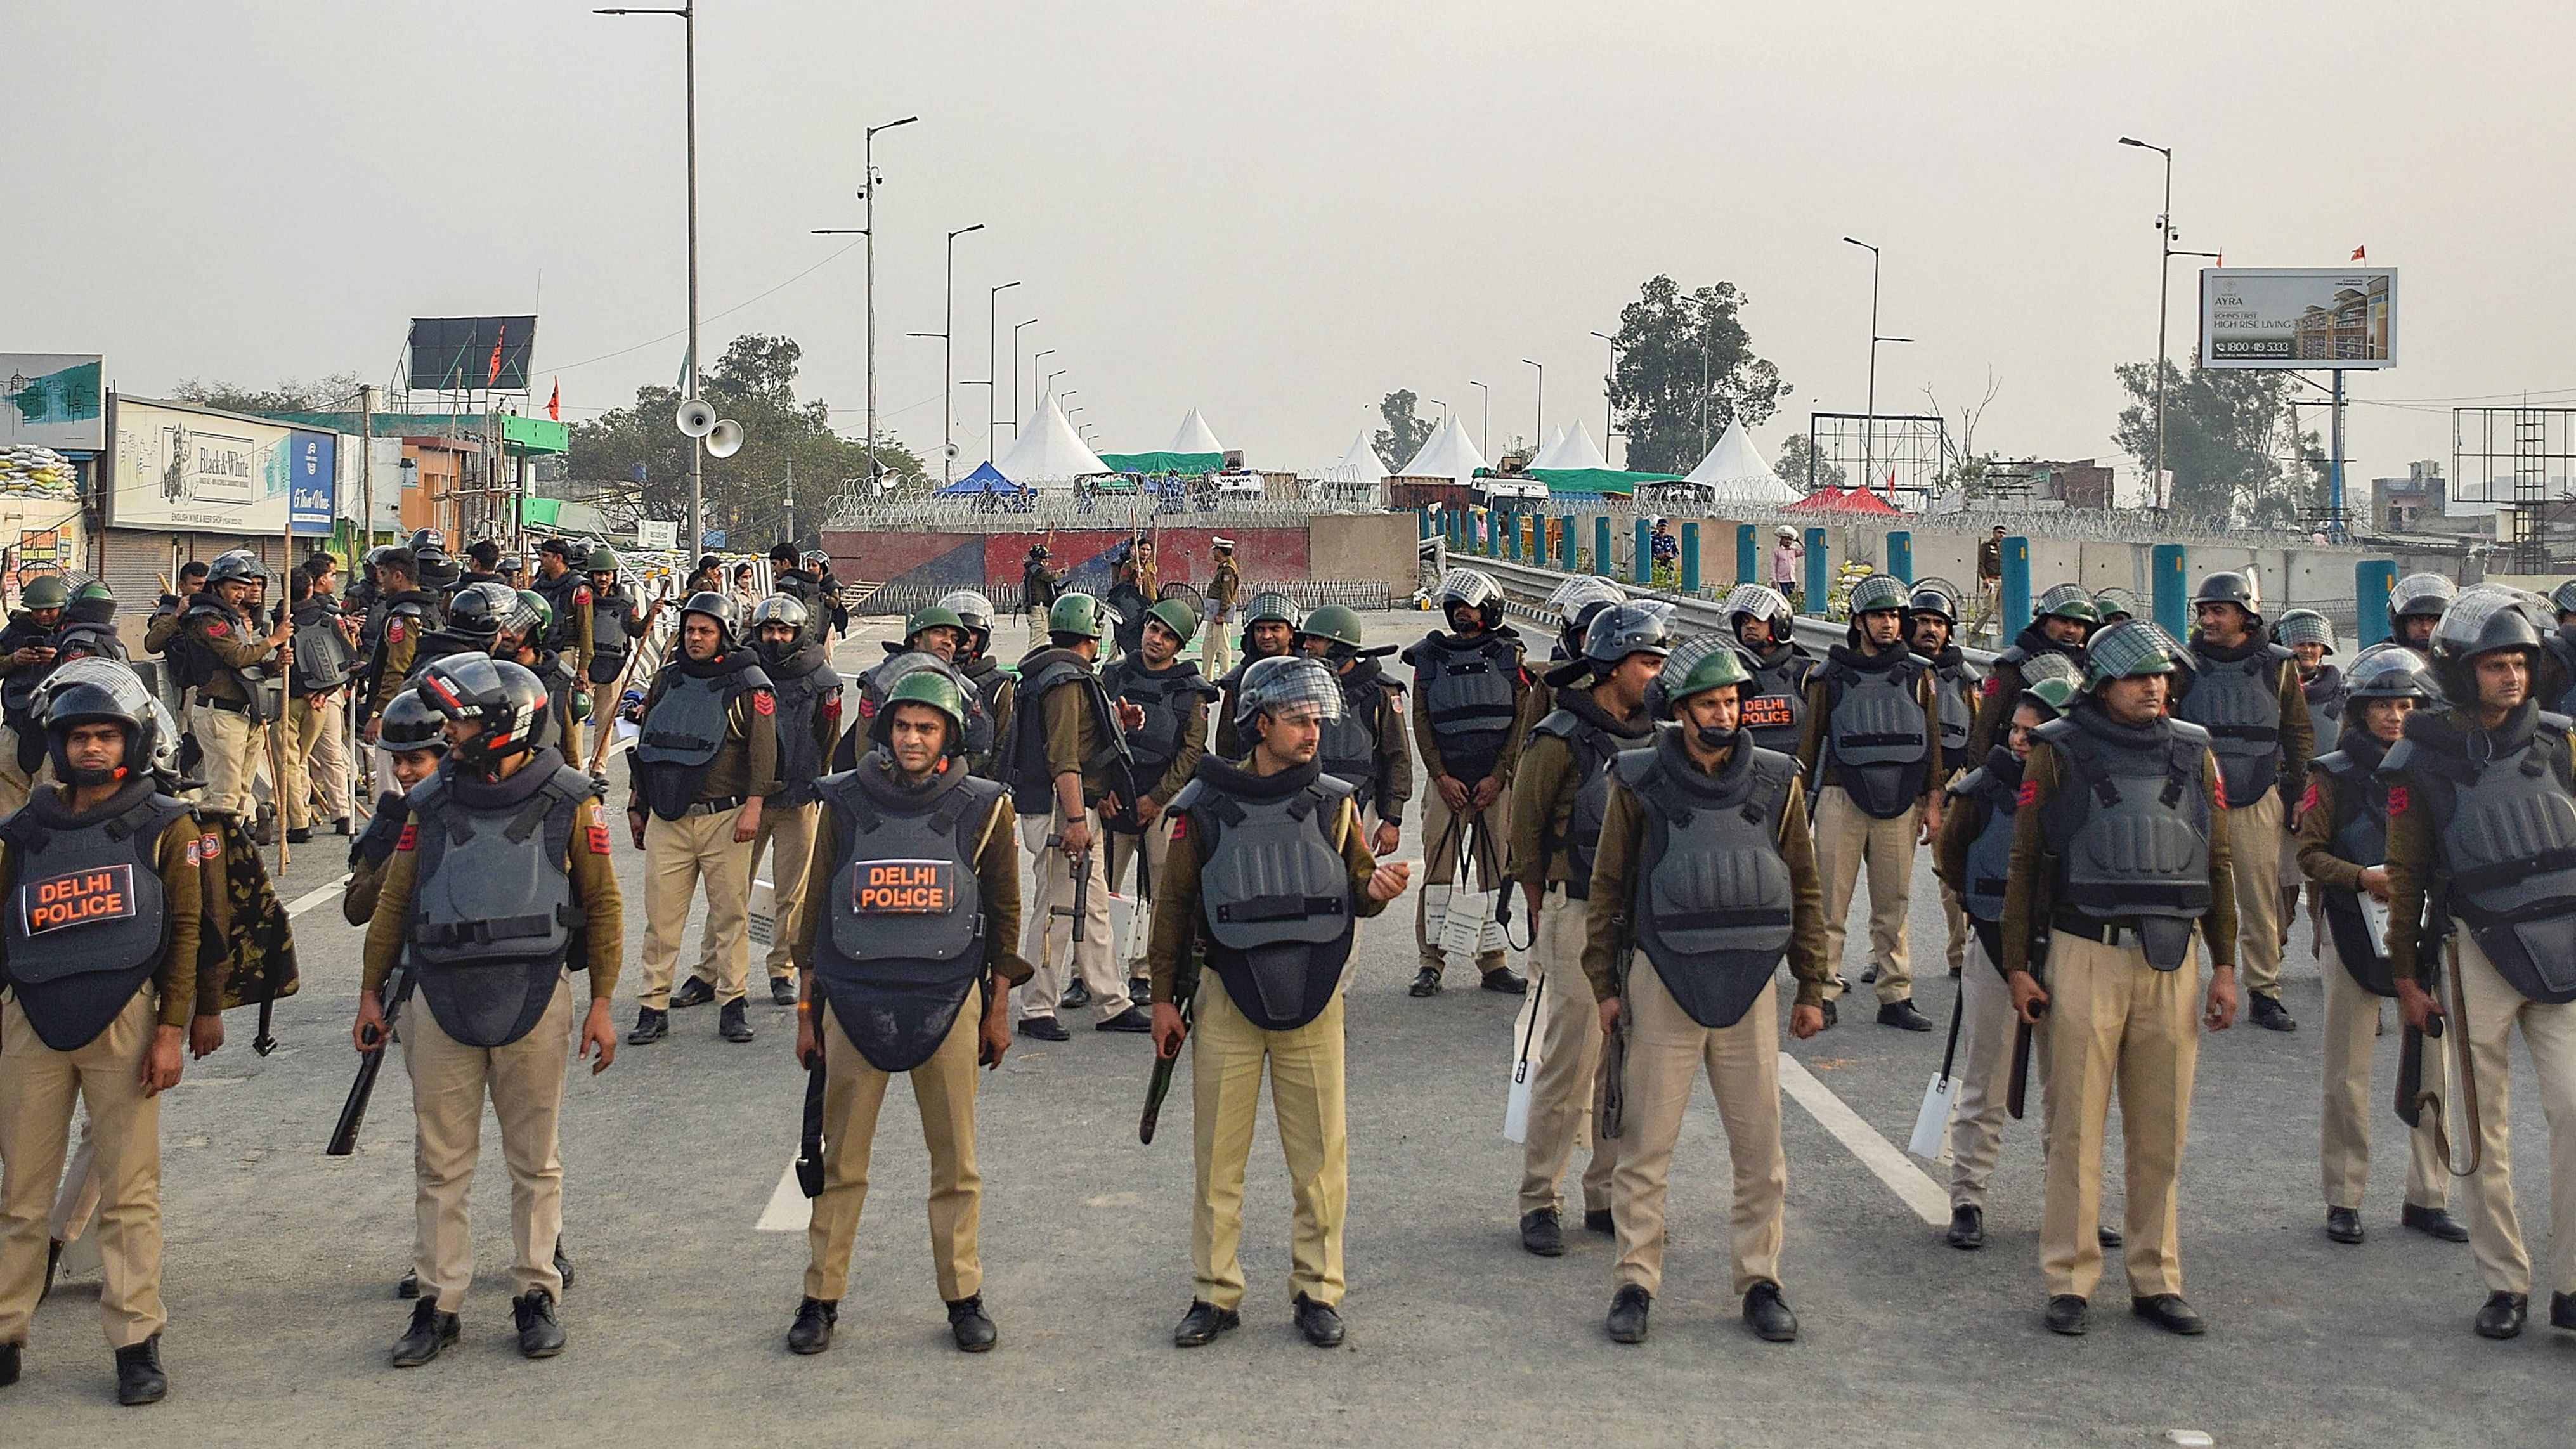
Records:
[[[1659,275],[1620,309],[1610,409],[1631,468],[1687,474],[1728,422],[1757,427],[1790,394],[1780,368],[1754,355],[1744,306],[1736,283],[1685,296]]]

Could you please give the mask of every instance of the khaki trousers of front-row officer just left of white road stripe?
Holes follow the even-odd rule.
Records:
[[[1610,1220],[1618,1225],[1618,1287],[1664,1289],[1664,1192],[1672,1148],[1682,1140],[1690,1089],[1708,1073],[1734,1163],[1734,1292],[1780,1282],[1788,1204],[1788,1153],[1780,1150],[1780,983],[1770,983],[1734,1027],[1703,1027],[1664,988],[1654,963],[1628,973],[1628,1081]],[[1595,1017],[1595,1027],[1600,1017]]]

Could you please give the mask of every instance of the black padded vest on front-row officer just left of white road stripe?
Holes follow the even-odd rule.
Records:
[[[1636,945],[1692,1022],[1734,1027],[1793,937],[1780,813],[1798,762],[1739,744],[1705,775],[1682,749],[1682,726],[1662,726],[1613,770],[1646,816],[1628,898]]]

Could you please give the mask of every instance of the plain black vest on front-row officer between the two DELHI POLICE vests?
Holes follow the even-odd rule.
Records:
[[[554,1001],[585,924],[564,862],[595,793],[554,749],[497,785],[440,770],[412,790],[412,965],[438,1029],[461,1045],[505,1048]]]

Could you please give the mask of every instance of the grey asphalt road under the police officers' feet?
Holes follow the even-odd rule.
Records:
[[[1422,615],[1376,615],[1412,638]],[[845,646],[878,656],[873,628]],[[999,649],[1020,643],[1005,623]],[[621,878],[636,854],[618,842]],[[1404,854],[1419,854],[1406,842]],[[337,842],[299,852],[281,896],[340,870]],[[629,891],[629,975],[641,942]],[[1118,909],[1123,921],[1123,903]],[[2576,1336],[2535,1325],[2488,1343],[2465,1246],[2396,1228],[2401,1130],[2378,1112],[2370,1243],[2324,1238],[2316,1186],[2318,1027],[2306,924],[2293,942],[2295,1035],[2210,1037],[2182,1181],[2184,1287],[2205,1338],[2169,1338],[2123,1313],[2117,1264],[2089,1338],[2040,1328],[2038,1122],[2007,1132],[1989,1246],[1942,1246],[1896,1189],[1806,1107],[1785,1109],[1788,1300],[1803,1338],[1754,1341],[1726,1292],[1723,1132],[1705,1089],[1685,1122],[1672,1251],[1654,1338],[1602,1336],[1607,1238],[1569,1233],[1564,1259],[1517,1246],[1520,1150],[1502,1140],[1517,999],[1404,993],[1409,903],[1363,929],[1350,986],[1350,1341],[1314,1351],[1288,1323],[1288,1189],[1267,1127],[1255,1143],[1244,1328],[1175,1351],[1190,1297],[1190,1094],[1162,1140],[1136,1143],[1144,1037],[1090,1032],[1020,1042],[984,1084],[984,1297],[994,1354],[948,1346],[922,1199],[927,1158],[894,1089],[878,1130],[840,1336],[819,1359],[781,1336],[806,1259],[801,1230],[760,1230],[796,1153],[801,1071],[791,1011],[755,1006],[760,1040],[726,1045],[714,1009],[675,1014],[670,1040],[574,1073],[564,1104],[564,1302],[572,1346],[518,1359],[507,1310],[507,1176],[484,1138],[474,1228],[479,1279],[464,1343],[394,1372],[386,1346],[410,1305],[410,1091],[384,1076],[361,1153],[322,1140],[348,1089],[358,932],[327,893],[296,919],[304,991],[278,1011],[283,1048],[234,1045],[193,1063],[162,1114],[170,1400],[206,1444],[345,1444],[440,1436],[479,1444],[1180,1444],[1242,1441],[1607,1441],[1607,1444],[2550,1444],[2568,1423]],[[1852,957],[1865,952],[1855,911]],[[1929,867],[1917,870],[1914,957],[1929,1014],[1950,1006]],[[1453,983],[1471,981],[1455,970]],[[1862,993],[1865,996],[1865,993]],[[621,1029],[634,1014],[618,1004]],[[1862,1017],[1855,1001],[1855,1017]],[[1891,1143],[1904,1143],[1940,1035],[1847,1019],[1785,1053]],[[2380,1042],[2383,1102],[2396,1035]],[[2545,1248],[2543,1122],[2517,1066],[2514,1138],[2535,1256]],[[2488,1102],[2494,1096],[2488,1094]],[[1886,1156],[1886,1153],[1880,1153]],[[2117,1132],[2110,1197],[2117,1197]],[[1906,1168],[1919,1171],[1919,1168]],[[1571,1174],[1569,1174],[1571,1176]],[[1571,1189],[1571,1181],[1569,1181]],[[793,1204],[791,1204],[793,1207]],[[2576,1230],[2576,1225],[2571,1225]],[[2545,1315],[2545,1300],[2537,1305]],[[0,1441],[95,1446],[152,1418],[113,1405],[95,1284],[67,1282],[36,1313],[26,1380],[0,1390]]]

